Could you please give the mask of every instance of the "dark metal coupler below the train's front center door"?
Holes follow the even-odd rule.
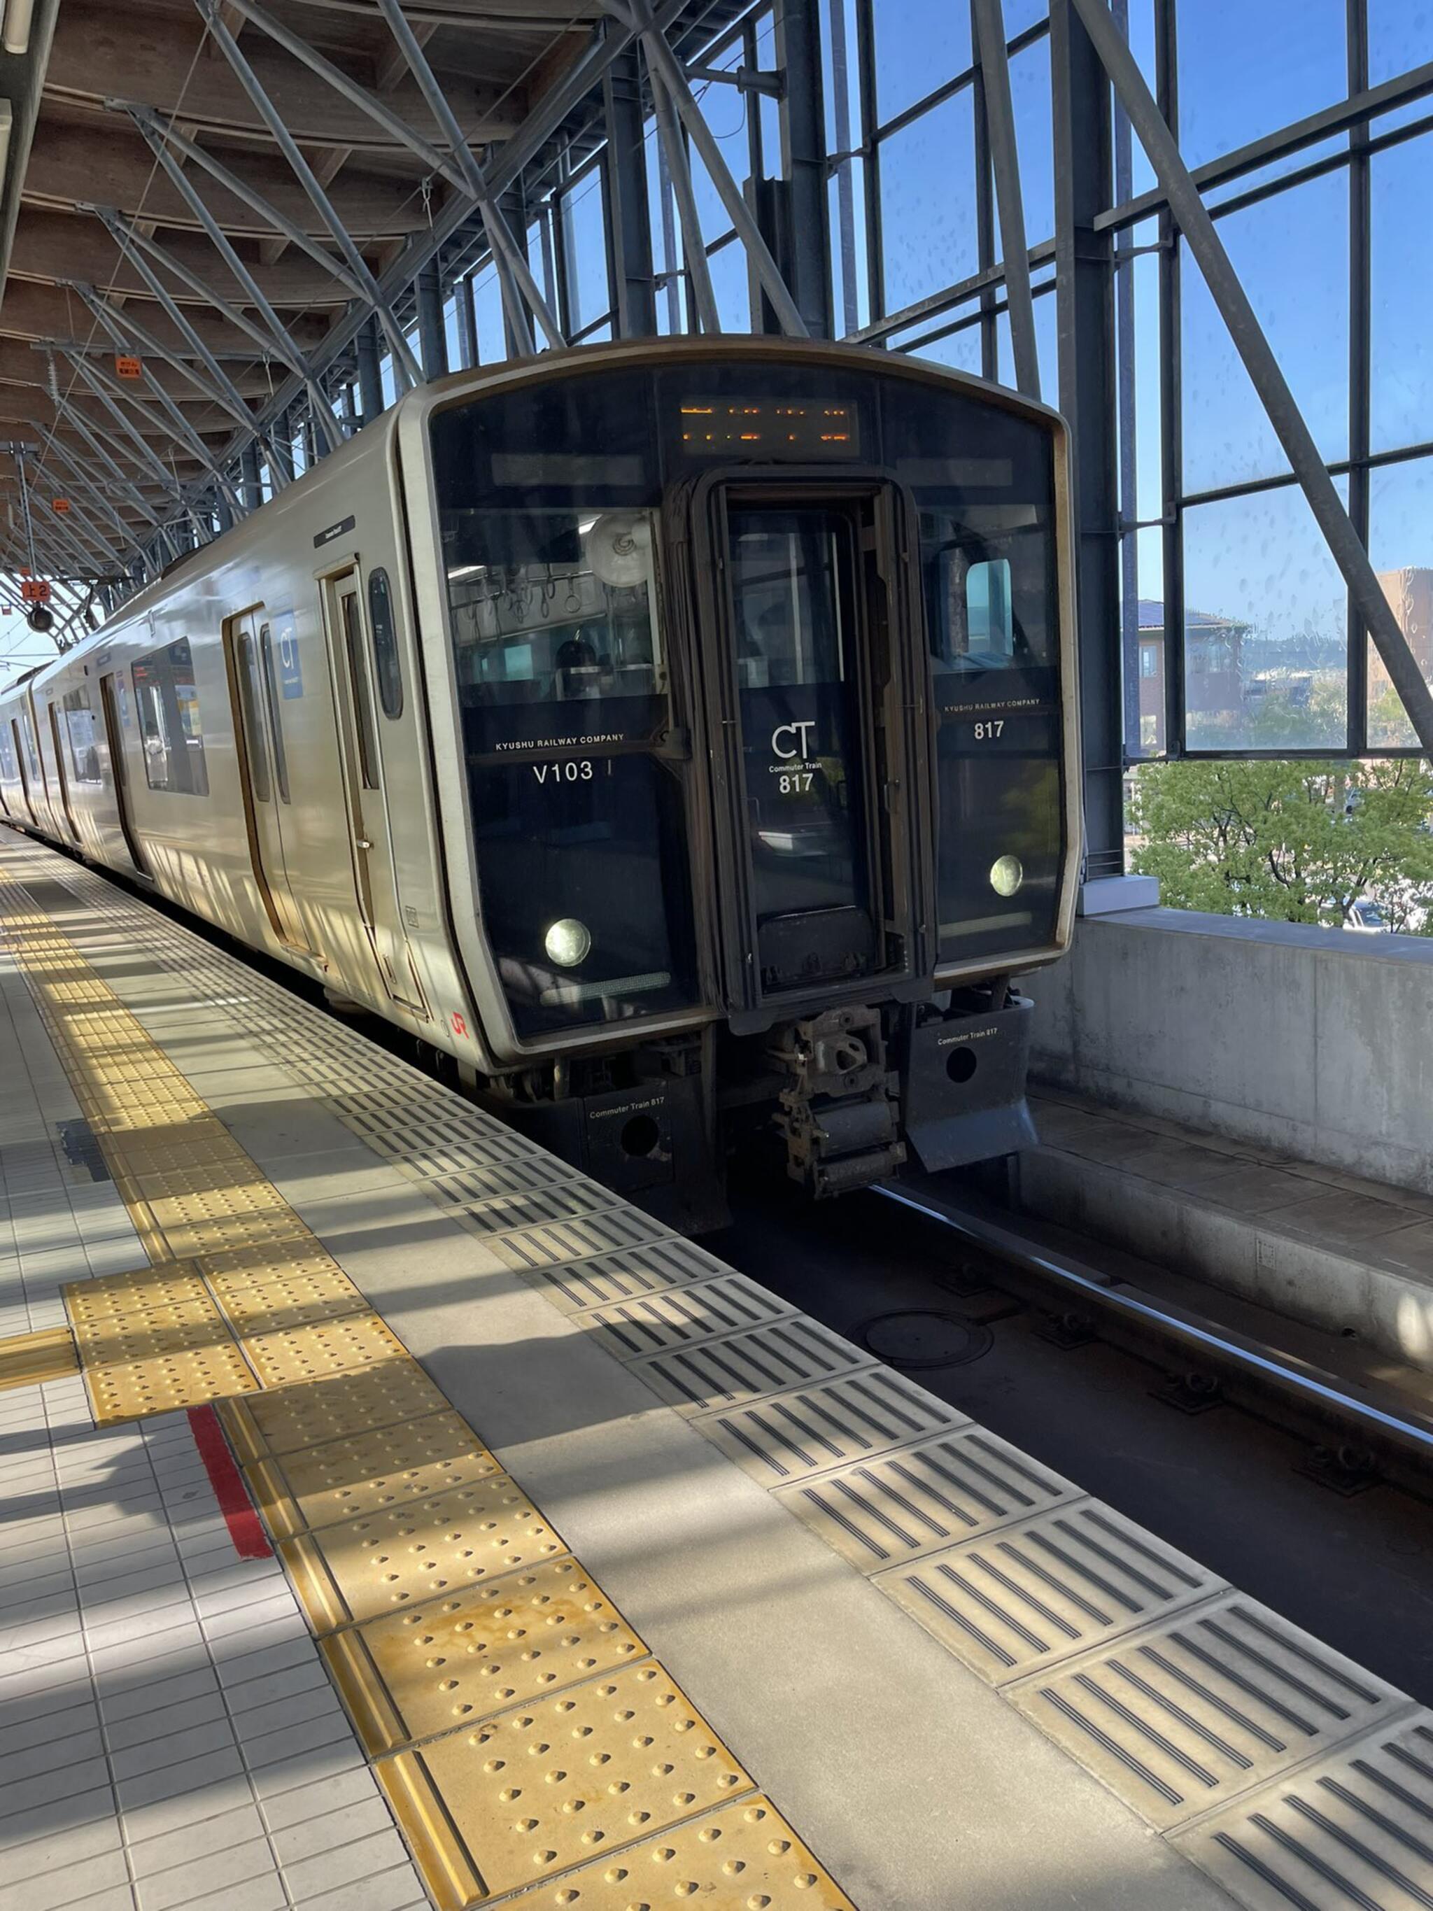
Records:
[[[768,1053],[787,1085],[774,1122],[785,1137],[791,1179],[822,1198],[894,1173],[906,1147],[881,1011],[827,1009],[776,1034]]]

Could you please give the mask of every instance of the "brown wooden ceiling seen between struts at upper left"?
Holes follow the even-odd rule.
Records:
[[[266,0],[266,11],[438,143],[418,88],[374,0]],[[600,0],[405,4],[409,25],[480,157],[491,141],[508,138],[577,59],[600,11]],[[438,216],[451,187],[248,21],[233,0],[225,0],[222,17],[348,233],[380,273],[405,239]],[[212,287],[229,306],[245,310],[246,304],[197,216],[155,166],[143,134],[124,111],[126,101],[172,117],[185,138],[332,250],[319,214],[193,0],[122,0],[118,6],[115,0],[59,0],[0,296],[0,440],[38,447],[59,430],[61,443],[86,461],[92,453],[82,434],[65,413],[57,415],[46,354],[34,350],[44,340],[109,350],[75,283],[120,300],[159,344],[189,352],[134,260],[122,256],[120,245],[96,216],[96,206],[113,208],[193,275],[197,287],[160,271],[164,289],[245,397],[260,401],[287,376],[281,365],[266,365],[254,342],[204,302],[203,290]],[[199,183],[294,342],[310,350],[317,346],[348,302],[338,279],[197,162],[185,162],[185,172]],[[258,313],[248,315],[258,319]],[[107,355],[97,355],[96,363],[101,371],[113,369]],[[235,428],[233,419],[195,392],[182,373],[159,359],[145,363],[189,424],[212,449],[220,449]],[[65,407],[115,436],[113,419],[97,397],[84,392],[73,365],[55,359],[55,375]],[[132,390],[143,394],[139,386]],[[132,403],[126,411],[180,480],[199,476],[201,462],[164,432],[159,401]],[[162,487],[149,483],[138,466],[134,482],[155,506],[162,505]],[[0,493],[13,497],[13,466],[0,459]],[[141,522],[136,508],[118,497],[113,503],[126,520]]]

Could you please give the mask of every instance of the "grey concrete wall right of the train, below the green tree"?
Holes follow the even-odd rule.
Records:
[[[1433,1194],[1433,938],[1131,910],[1024,988],[1037,1080]]]

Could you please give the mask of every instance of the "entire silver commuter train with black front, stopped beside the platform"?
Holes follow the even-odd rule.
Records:
[[[407,394],[0,698],[10,822],[676,1223],[1030,1139],[1078,873],[1060,419],[766,338]]]

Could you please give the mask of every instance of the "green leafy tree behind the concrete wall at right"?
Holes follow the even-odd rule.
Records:
[[[1433,934],[1433,770],[1364,762],[1146,762],[1133,780],[1133,868],[1175,910],[1347,921],[1374,900]]]

